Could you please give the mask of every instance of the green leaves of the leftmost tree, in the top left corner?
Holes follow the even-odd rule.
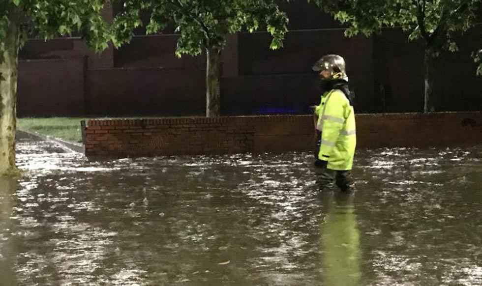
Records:
[[[28,34],[47,40],[75,33],[102,51],[111,38],[103,6],[104,0],[0,0],[0,55],[10,25],[20,28],[20,45]]]

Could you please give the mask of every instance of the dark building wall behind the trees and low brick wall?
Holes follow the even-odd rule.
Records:
[[[343,29],[305,1],[283,3],[290,18],[284,48],[271,51],[266,32],[229,37],[223,52],[222,114],[308,114],[319,103],[312,64],[329,53],[345,57],[358,113],[422,112],[423,45],[398,29],[346,38]],[[112,19],[116,9],[107,7]],[[175,57],[173,27],[101,55],[79,38],[30,40],[21,51],[19,117],[204,115],[206,59]],[[482,26],[438,60],[437,111],[482,110],[482,77],[470,56],[482,48]]]

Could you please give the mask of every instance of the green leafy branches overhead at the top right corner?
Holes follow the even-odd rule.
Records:
[[[310,0],[308,0],[310,1]],[[476,24],[481,0],[311,0],[346,24],[347,36],[366,36],[386,27],[399,27],[409,39],[422,38],[437,56],[456,51],[457,33]]]

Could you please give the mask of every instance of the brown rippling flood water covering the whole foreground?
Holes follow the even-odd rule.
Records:
[[[309,153],[17,149],[0,285],[482,285],[482,146],[359,150],[351,195],[320,193]]]

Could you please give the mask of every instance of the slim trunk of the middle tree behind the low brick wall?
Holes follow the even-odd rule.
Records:
[[[206,63],[206,117],[221,115],[221,50],[208,48]]]

